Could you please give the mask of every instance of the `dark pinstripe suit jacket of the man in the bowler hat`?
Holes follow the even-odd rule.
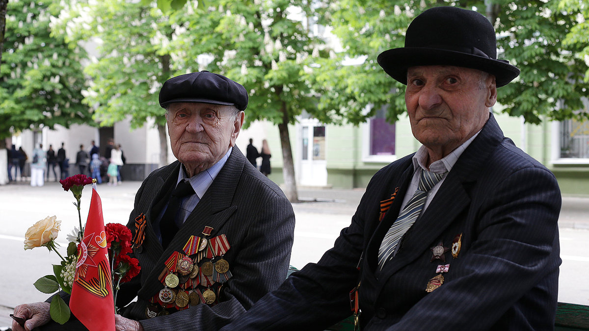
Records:
[[[349,291],[359,282],[362,330],[553,329],[560,190],[547,168],[503,136],[492,115],[398,254],[376,271],[382,238],[403,196],[412,194],[406,192],[411,157],[375,174],[352,224],[317,264],[307,264],[263,297],[240,317],[239,327],[223,330],[323,330],[350,315]],[[379,221],[379,202],[396,188]],[[458,257],[448,251],[445,262],[432,261],[431,247],[451,247],[457,234]],[[450,264],[444,283],[428,293],[439,264]]]

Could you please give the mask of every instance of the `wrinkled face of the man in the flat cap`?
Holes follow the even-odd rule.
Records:
[[[243,124],[243,111],[201,102],[176,102],[168,107],[168,135],[174,156],[194,176],[227,153]]]

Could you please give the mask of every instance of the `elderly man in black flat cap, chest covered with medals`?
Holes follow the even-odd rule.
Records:
[[[118,307],[137,300],[115,316],[117,330],[218,330],[286,279],[294,213],[235,146],[247,100],[243,86],[207,71],[161,88],[178,161],[151,173],[135,196],[127,226],[141,273],[118,292]],[[28,329],[47,323],[47,312],[48,303],[15,308]],[[84,327],[42,327],[50,329]]]

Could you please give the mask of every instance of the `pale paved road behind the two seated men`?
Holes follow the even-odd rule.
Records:
[[[127,223],[139,186],[139,182],[98,186],[105,223]],[[362,194],[363,190],[299,190],[299,197],[306,202],[293,204],[293,266],[300,269],[317,262],[323,252],[333,247],[339,231],[349,225]],[[90,196],[90,190],[82,195],[82,217],[88,213]],[[51,264],[59,262],[55,253],[44,248],[23,250],[24,233],[36,221],[56,215],[62,220],[58,242],[65,244],[65,234],[78,224],[73,201],[72,194],[55,182],[44,187],[24,183],[0,186],[0,262],[4,266],[0,276],[0,330],[10,323],[11,307],[45,300],[47,294],[38,292],[32,284],[51,274]],[[589,304],[589,285],[585,281],[589,274],[589,198],[565,197],[559,225],[563,260],[559,301]]]

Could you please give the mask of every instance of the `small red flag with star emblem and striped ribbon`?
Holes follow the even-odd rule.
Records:
[[[84,239],[78,245],[78,263],[72,284],[70,310],[90,331],[115,329],[107,237],[102,219],[102,204],[94,188]]]

